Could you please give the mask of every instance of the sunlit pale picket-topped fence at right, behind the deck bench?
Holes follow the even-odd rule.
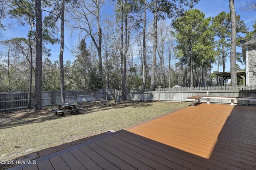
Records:
[[[256,97],[256,85],[254,86],[236,86],[236,87],[181,87],[181,88],[160,88],[156,91],[134,92],[127,90],[126,100],[131,101],[172,101],[188,102],[187,97],[196,95],[210,96],[233,96],[233,97]],[[202,99],[206,102],[206,99]],[[228,99],[211,99],[211,103],[230,104]],[[256,106],[256,101],[235,101],[236,105]]]

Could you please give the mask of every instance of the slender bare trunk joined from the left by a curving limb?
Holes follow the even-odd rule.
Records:
[[[99,45],[98,45],[98,57],[99,57],[99,78],[102,81],[102,57],[101,57],[101,44],[102,44],[102,30],[100,28],[100,6],[99,1],[96,1],[97,4],[97,30],[98,30],[98,37],[99,37]]]

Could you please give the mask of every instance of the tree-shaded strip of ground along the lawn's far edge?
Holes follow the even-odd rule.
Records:
[[[113,102],[113,101],[112,101]],[[122,109],[126,107],[133,107],[133,108],[140,108],[140,107],[150,107],[153,106],[154,102],[130,102],[126,101],[122,104],[116,104],[110,102],[110,106],[101,105],[99,102],[94,103],[94,105],[84,105],[84,104],[78,104],[78,107],[83,107],[82,111],[79,111],[79,115],[86,115],[90,113],[96,113],[98,111],[109,111],[111,109]],[[49,108],[49,109],[47,109]],[[13,117],[9,116],[6,121],[3,121],[0,123],[0,130],[5,128],[12,128],[12,127],[18,127],[22,125],[28,125],[32,123],[42,123],[45,121],[52,121],[55,119],[64,119],[71,116],[78,116],[75,112],[73,113],[65,113],[64,117],[60,117],[60,114],[55,115],[55,112],[50,109],[50,107],[46,107],[46,114],[38,114],[32,113],[32,115],[27,115],[26,113],[23,113],[24,115],[17,116],[18,113],[11,113],[13,114]],[[1,119],[4,119],[4,116],[0,115]]]

